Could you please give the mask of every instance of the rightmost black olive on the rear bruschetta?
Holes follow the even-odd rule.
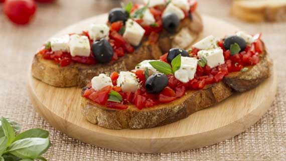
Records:
[[[163,27],[169,33],[175,33],[180,25],[180,20],[175,14],[166,14],[162,18]]]

